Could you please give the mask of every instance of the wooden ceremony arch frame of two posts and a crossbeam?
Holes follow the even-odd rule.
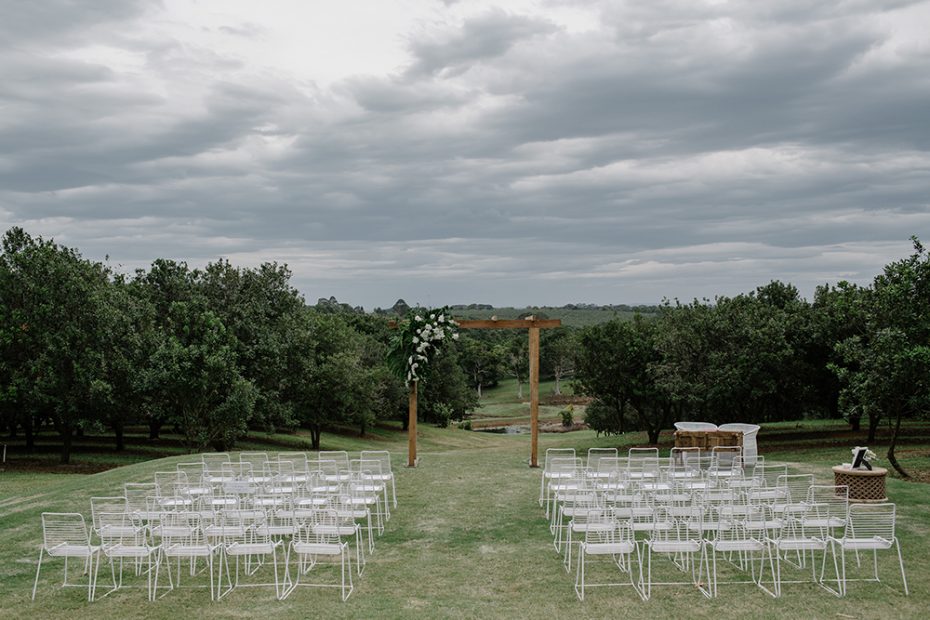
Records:
[[[559,319],[482,319],[459,321],[459,329],[525,329],[530,349],[530,467],[539,467],[539,330],[560,327]],[[410,384],[407,426],[407,466],[417,466],[417,384]]]

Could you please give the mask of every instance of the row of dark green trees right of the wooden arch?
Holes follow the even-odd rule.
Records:
[[[930,256],[888,264],[869,286],[823,285],[814,299],[773,281],[734,297],[666,301],[656,318],[612,320],[579,335],[579,389],[595,430],[645,430],[676,420],[884,420],[895,458],[901,421],[930,410]]]

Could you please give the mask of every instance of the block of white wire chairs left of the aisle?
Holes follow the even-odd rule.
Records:
[[[43,513],[32,598],[47,556],[64,559],[64,586],[74,585],[69,560],[80,562],[89,601],[97,596],[102,561],[112,576],[103,596],[123,587],[128,564],[145,576],[154,600],[160,589],[180,585],[182,560],[189,562],[191,577],[208,573],[212,600],[245,586],[273,586],[283,599],[302,585],[337,587],[346,600],[354,588],[349,543],[354,539],[361,575],[374,534],[383,533],[397,505],[389,453],[365,451],[358,459],[344,452],[315,459],[304,453],[280,453],[273,460],[264,453],[239,456],[205,454],[199,463],[156,473],[153,482],[125,483],[121,495],[91,498],[90,529],[81,513]],[[338,564],[335,582],[308,581],[321,560]],[[254,576],[269,565],[273,581],[240,582],[240,575]]]

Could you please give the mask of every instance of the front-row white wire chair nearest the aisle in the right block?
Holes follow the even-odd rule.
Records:
[[[629,584],[615,581],[590,583],[588,562],[596,558],[609,558],[613,567],[629,575]],[[634,575],[634,567],[637,574]],[[609,513],[588,516],[584,541],[578,548],[575,569],[575,594],[583,601],[585,590],[592,587],[632,585],[640,598],[643,592],[643,562],[639,545],[628,522],[617,521]]]

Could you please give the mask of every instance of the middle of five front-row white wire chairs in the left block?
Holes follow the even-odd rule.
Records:
[[[170,592],[182,587],[182,561],[190,564],[190,576],[193,578],[199,574],[198,562],[203,560],[209,580],[210,600],[216,600],[215,575],[220,546],[218,542],[211,542],[207,538],[205,527],[207,523],[198,512],[173,512],[166,513],[159,524],[152,528],[152,537],[158,543],[159,551],[159,560],[155,565],[156,592],[162,566],[168,573]],[[176,574],[173,574],[175,571],[172,571],[172,562],[176,564]]]

